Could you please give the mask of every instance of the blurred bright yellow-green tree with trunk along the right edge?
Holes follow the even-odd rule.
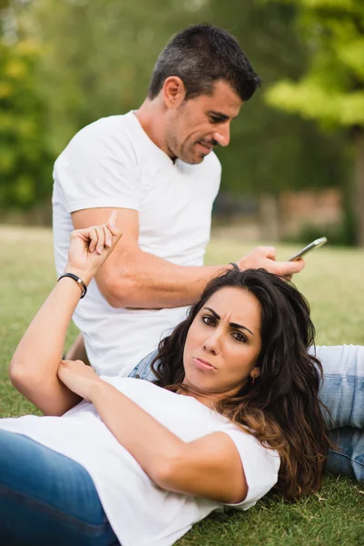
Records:
[[[364,3],[362,0],[284,0],[297,6],[297,28],[310,61],[297,81],[278,82],[268,104],[348,128],[353,144],[352,204],[356,238],[364,246]],[[289,76],[289,75],[288,75]],[[294,79],[294,78],[292,78]]]

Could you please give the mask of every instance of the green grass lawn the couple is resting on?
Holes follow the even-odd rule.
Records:
[[[56,274],[49,230],[0,227],[0,237],[0,417],[8,417],[36,413],[10,385],[7,366]],[[237,239],[213,238],[206,261],[228,263],[250,248]],[[288,258],[297,249],[279,246],[278,258]],[[295,281],[311,304],[319,343],[364,344],[363,271],[363,251],[321,248],[308,256]],[[68,344],[75,335],[71,327]],[[213,514],[178,541],[178,546],[240,544],[364,546],[364,484],[328,476],[319,495],[291,505],[265,499],[247,512]]]

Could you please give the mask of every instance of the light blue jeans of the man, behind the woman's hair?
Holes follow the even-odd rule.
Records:
[[[150,364],[157,351],[137,364],[130,377],[153,381]],[[359,345],[317,348],[324,379],[319,398],[328,408],[324,418],[337,449],[329,450],[327,470],[364,481],[364,347]]]

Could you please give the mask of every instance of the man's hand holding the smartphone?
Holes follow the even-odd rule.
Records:
[[[239,259],[238,267],[242,270],[264,268],[269,273],[274,273],[280,277],[291,278],[294,273],[299,273],[305,267],[305,261],[298,259],[296,261],[276,261],[276,248],[257,247],[251,252]]]

